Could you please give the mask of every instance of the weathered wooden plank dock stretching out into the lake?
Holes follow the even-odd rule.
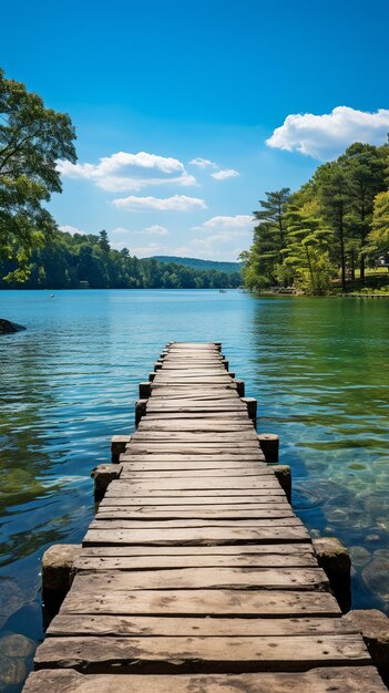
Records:
[[[218,345],[156,368],[24,693],[386,691]]]

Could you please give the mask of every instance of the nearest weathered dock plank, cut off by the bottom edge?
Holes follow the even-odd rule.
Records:
[[[24,693],[385,693],[373,666],[310,669],[305,673],[136,675],[41,670],[30,674]]]

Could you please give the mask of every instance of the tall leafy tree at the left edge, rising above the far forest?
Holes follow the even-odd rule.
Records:
[[[0,256],[18,261],[11,279],[28,276],[32,249],[57,228],[43,203],[62,190],[57,161],[76,161],[74,138],[69,115],[0,69]]]

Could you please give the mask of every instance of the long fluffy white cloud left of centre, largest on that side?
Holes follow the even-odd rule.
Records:
[[[60,174],[68,178],[92,180],[108,193],[139,192],[156,185],[197,185],[194,176],[185,170],[182,162],[172,156],[157,156],[147,152],[132,154],[116,152],[103,156],[98,164],[57,163]]]

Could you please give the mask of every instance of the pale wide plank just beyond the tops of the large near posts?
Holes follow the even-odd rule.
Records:
[[[309,542],[304,527],[176,527],[172,529],[94,529],[89,528],[83,546],[102,545],[165,545],[190,546],[211,544],[287,544]]]

